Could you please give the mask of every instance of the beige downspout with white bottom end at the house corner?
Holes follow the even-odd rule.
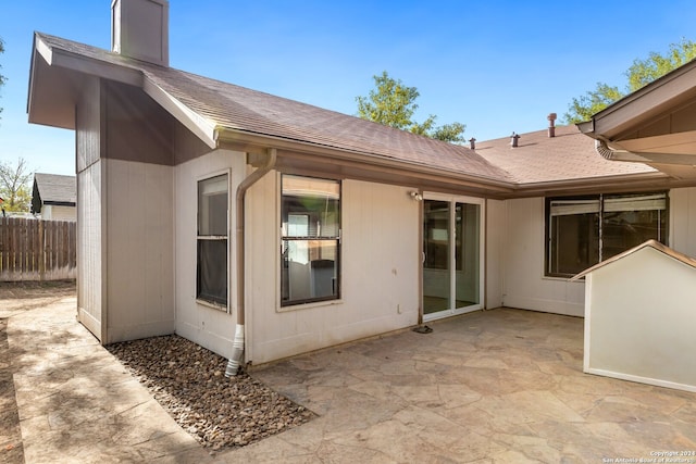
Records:
[[[245,285],[246,285],[246,265],[245,265],[245,199],[249,187],[254,185],[261,177],[275,166],[277,151],[274,148],[266,150],[268,159],[265,163],[257,171],[247,176],[239,187],[237,187],[236,196],[236,246],[237,246],[237,327],[235,328],[235,339],[232,344],[232,356],[227,361],[225,377],[234,377],[239,372],[241,356],[244,355],[245,346]]]

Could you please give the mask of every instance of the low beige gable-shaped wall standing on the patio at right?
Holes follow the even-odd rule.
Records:
[[[587,276],[585,372],[696,391],[696,269],[643,248]]]

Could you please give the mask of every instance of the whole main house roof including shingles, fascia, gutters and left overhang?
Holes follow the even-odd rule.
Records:
[[[318,162],[324,166],[340,162],[335,170],[347,176],[490,198],[668,188],[671,181],[645,165],[604,160],[594,141],[574,127],[558,127],[555,138],[546,137],[546,130],[522,134],[514,149],[506,138],[480,142],[474,151],[38,33],[29,121],[74,128],[80,86],[71,79],[83,75],[140,87],[211,149],[236,143],[247,151],[256,143],[283,150],[278,159],[285,161],[278,161],[278,167],[295,172],[316,172]],[[375,174],[375,166],[384,173]]]

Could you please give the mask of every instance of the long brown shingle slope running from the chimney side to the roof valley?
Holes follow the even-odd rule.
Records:
[[[175,68],[127,59],[59,37],[45,34],[37,36],[51,48],[142,72],[151,83],[213,126],[399,160],[497,181],[509,180],[504,170],[467,147]]]

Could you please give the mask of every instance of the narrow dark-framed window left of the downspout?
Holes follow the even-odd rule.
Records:
[[[227,174],[198,183],[196,298],[227,306]]]

